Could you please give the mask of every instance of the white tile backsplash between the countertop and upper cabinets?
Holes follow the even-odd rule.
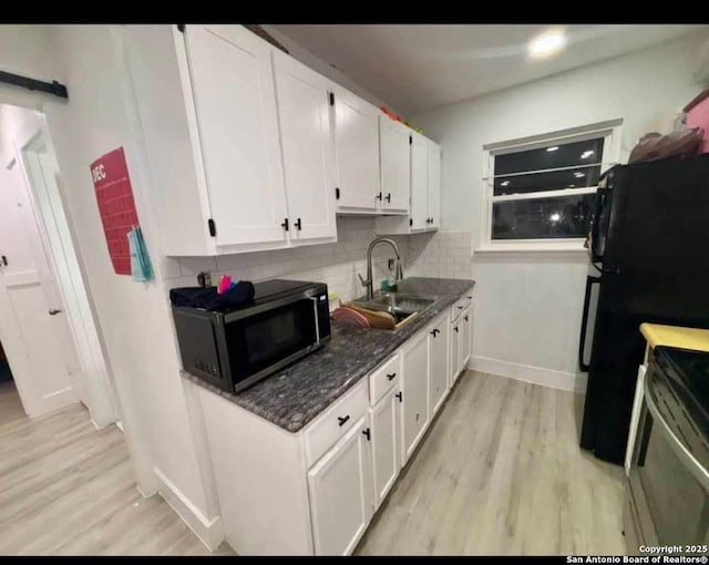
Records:
[[[336,244],[309,245],[291,249],[258,251],[219,257],[168,258],[165,271],[176,277],[171,286],[197,284],[201,270],[212,273],[213,284],[222,275],[230,275],[237,280],[259,281],[270,278],[291,278],[326,282],[331,292],[341,300],[351,300],[364,294],[357,274],[367,273],[367,247],[377,237],[373,217],[342,216],[337,219],[338,242]],[[471,232],[436,232],[411,236],[392,236],[403,259],[404,276],[427,276],[444,278],[471,278],[472,234]],[[380,244],[372,255],[374,288],[381,280],[393,276],[388,259],[393,258],[393,249]],[[173,261],[179,266],[176,270]],[[189,278],[191,277],[191,278]],[[168,277],[165,277],[168,278]],[[192,280],[192,282],[189,282]],[[172,281],[172,280],[171,280]]]

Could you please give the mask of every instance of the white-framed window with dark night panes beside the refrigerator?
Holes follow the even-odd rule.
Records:
[[[614,125],[485,146],[482,247],[580,248]]]

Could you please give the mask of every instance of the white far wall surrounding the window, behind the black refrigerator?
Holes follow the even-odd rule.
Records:
[[[415,116],[442,147],[443,229],[480,240],[484,144],[621,117],[621,152],[700,90],[692,73],[707,33],[637,51]],[[572,388],[586,257],[474,256],[480,367]],[[538,370],[536,370],[538,369]]]

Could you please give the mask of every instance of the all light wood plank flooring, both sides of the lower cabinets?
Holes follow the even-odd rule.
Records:
[[[625,553],[623,470],[578,448],[583,397],[462,376],[357,548],[361,555]],[[223,545],[218,554],[229,554]],[[115,427],[39,420],[0,386],[0,555],[208,555],[135,490]]]

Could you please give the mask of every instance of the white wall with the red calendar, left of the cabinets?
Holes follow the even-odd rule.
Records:
[[[205,480],[198,456],[203,445],[191,421],[194,407],[183,391],[165,287],[160,277],[136,284],[113,273],[89,170],[102,154],[125,148],[138,217],[158,265],[148,178],[126,107],[117,30],[0,30],[0,69],[59,80],[69,89],[69,101],[62,101],[0,85],[0,102],[45,112],[63,181],[60,191],[119,389],[138,486],[146,494],[161,490],[202,535],[210,531],[218,538],[214,485]]]

